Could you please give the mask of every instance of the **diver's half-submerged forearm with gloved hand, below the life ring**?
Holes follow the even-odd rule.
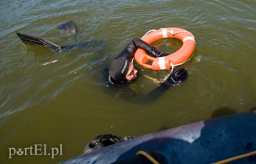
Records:
[[[182,81],[187,79],[188,73],[184,68],[176,69],[172,71],[169,77],[153,91],[146,95],[146,99],[150,101],[157,100],[165,91],[167,91],[171,86],[175,86]]]

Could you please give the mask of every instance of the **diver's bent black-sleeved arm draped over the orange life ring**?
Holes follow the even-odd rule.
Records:
[[[154,46],[150,46],[145,41],[142,41],[139,38],[134,38],[132,41],[124,48],[124,50],[116,57],[116,59],[126,59],[131,60],[134,57],[136,50],[140,48],[147,51],[153,57],[162,57],[166,56],[159,51],[157,51]]]

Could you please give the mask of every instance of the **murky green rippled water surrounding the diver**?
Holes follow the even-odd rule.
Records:
[[[253,0],[2,2],[0,160],[57,163],[81,154],[97,134],[140,136],[255,110],[255,8]],[[76,36],[61,36],[57,26],[72,19]],[[188,79],[148,104],[134,103],[136,97],[122,99],[117,93],[146,94],[156,84],[143,75],[161,80],[170,70],[152,71],[135,63],[139,70],[135,82],[105,87],[108,62],[132,38],[162,27],[180,27],[195,36],[194,56],[178,67],[188,70]],[[61,46],[80,46],[55,53],[25,45],[16,32]],[[169,43],[174,49],[180,46],[175,40]],[[156,47],[174,51],[162,44],[165,41]],[[35,155],[35,145],[42,145],[37,151],[42,155]],[[51,158],[48,152],[54,147],[60,150],[60,145],[63,155]],[[32,150],[28,155],[9,158],[9,148],[30,146],[34,149],[28,149]]]

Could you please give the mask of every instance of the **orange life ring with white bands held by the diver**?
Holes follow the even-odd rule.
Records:
[[[163,38],[177,38],[180,39],[183,44],[178,51],[168,56],[156,58],[147,55],[146,52],[142,49],[137,49],[134,55],[134,59],[145,68],[151,68],[153,70],[164,70],[186,62],[195,52],[196,42],[194,36],[182,28],[161,28],[146,34],[141,38],[141,40],[150,44]],[[147,64],[149,60],[153,61],[152,65]]]

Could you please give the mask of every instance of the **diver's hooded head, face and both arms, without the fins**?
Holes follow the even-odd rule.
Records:
[[[107,67],[108,82],[111,84],[130,82],[137,78],[137,70],[134,69],[130,60],[134,57],[136,50],[140,48],[147,51],[153,57],[163,57],[169,54],[157,51],[153,46],[150,46],[145,41],[139,38],[132,39],[132,41],[124,48],[124,50],[112,60]],[[176,85],[187,79],[188,73],[184,68],[172,71],[169,77],[155,90],[149,94],[159,95],[168,90],[170,86]]]

